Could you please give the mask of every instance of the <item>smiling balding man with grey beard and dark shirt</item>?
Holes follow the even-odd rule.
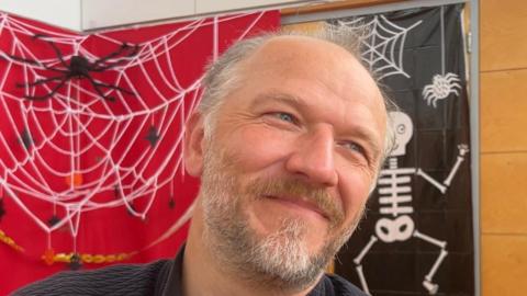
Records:
[[[327,27],[233,45],[187,124],[186,168],[202,183],[177,258],[63,273],[18,295],[365,295],[324,274],[391,143],[394,106],[358,44]]]

